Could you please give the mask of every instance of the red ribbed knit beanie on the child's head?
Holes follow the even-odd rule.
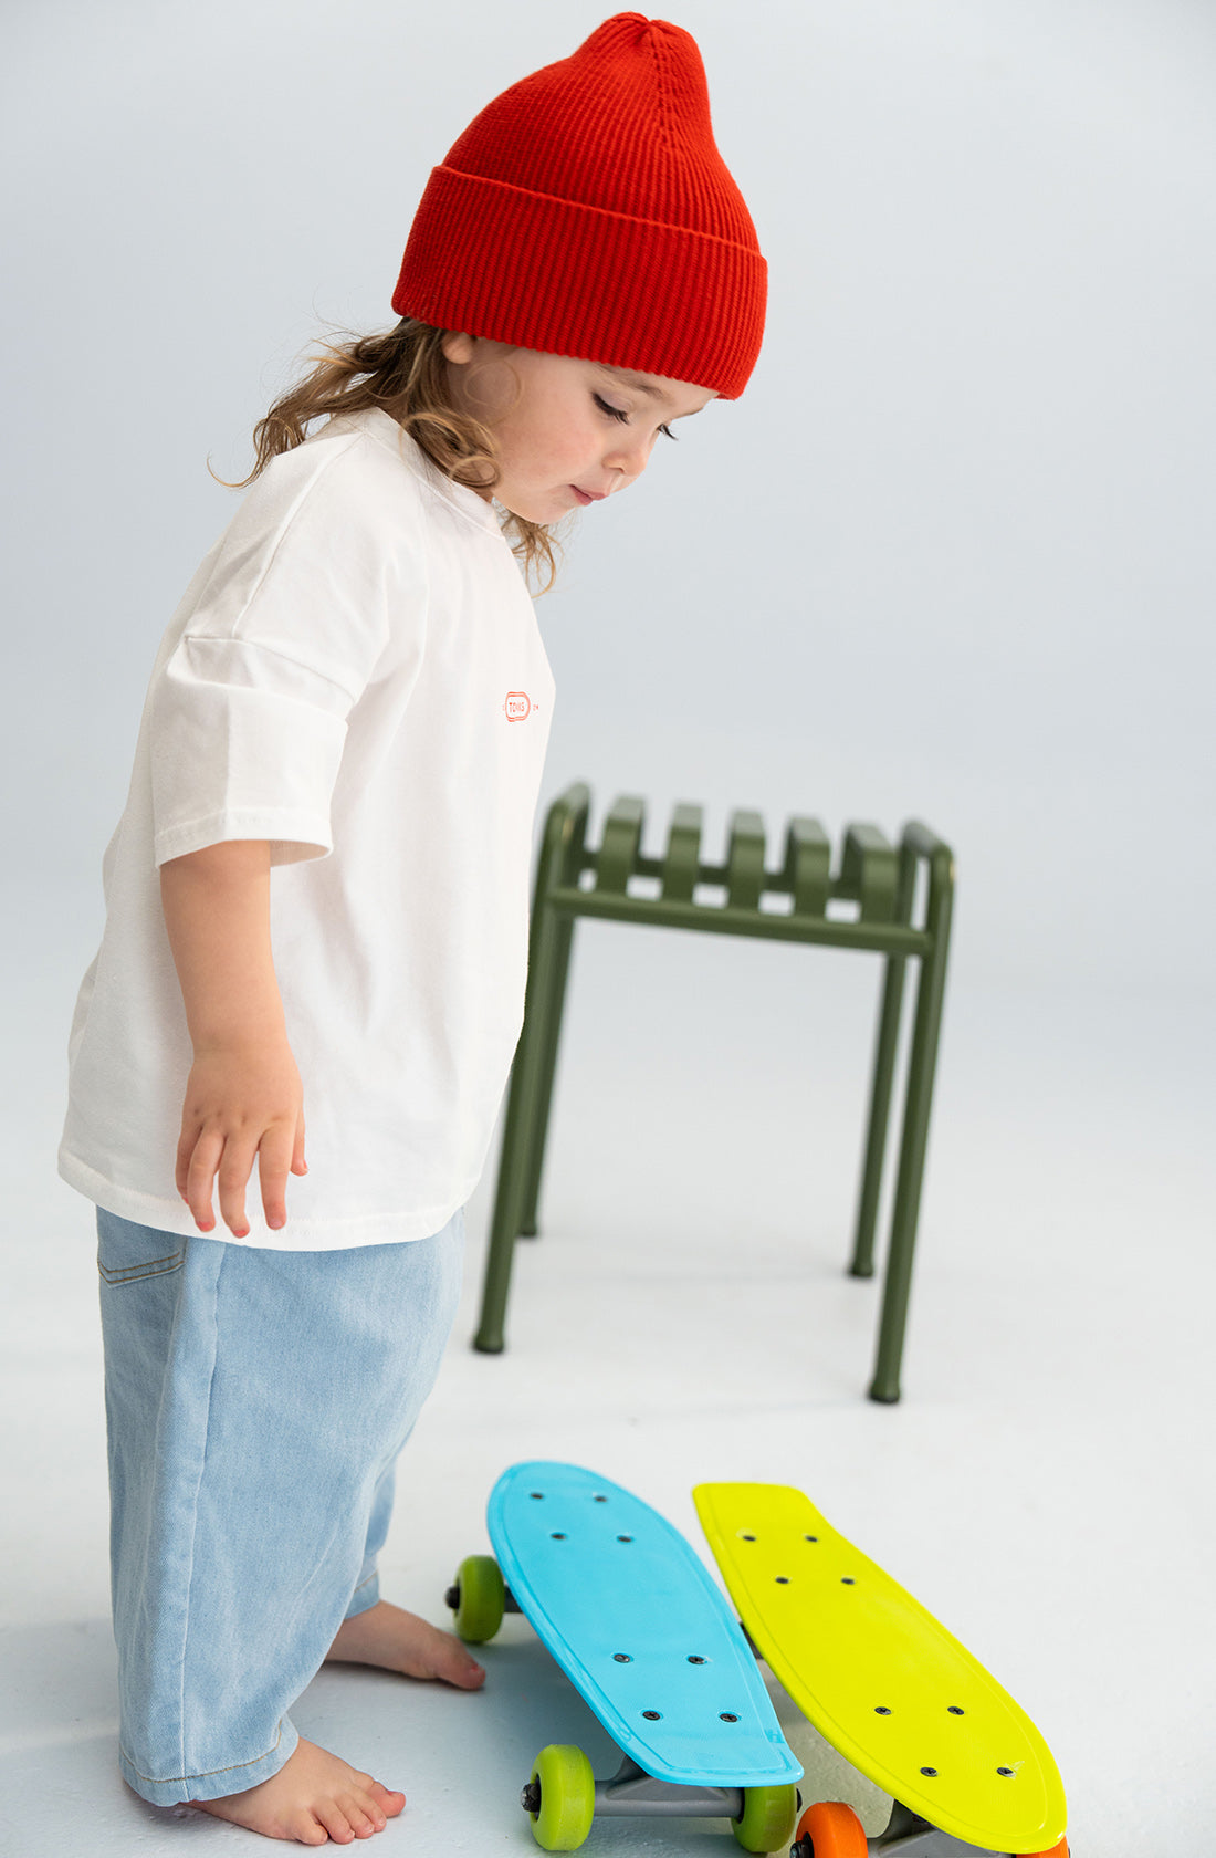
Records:
[[[486,104],[433,169],[392,301],[438,329],[735,399],[765,281],[696,41],[616,13]]]

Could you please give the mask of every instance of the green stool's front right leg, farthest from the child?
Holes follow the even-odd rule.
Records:
[[[947,851],[934,860],[930,875],[928,922],[932,949],[921,962],[917,1005],[912,1026],[912,1053],[908,1059],[908,1094],[904,1098],[904,1130],[900,1139],[895,1208],[891,1213],[891,1245],[882,1293],[878,1325],[878,1356],[869,1397],[893,1405],[899,1399],[899,1375],[908,1325],[908,1295],[912,1289],[912,1254],[917,1237],[921,1185],[925,1180],[925,1152],[928,1146],[928,1115],[934,1100],[934,1070],[941,1033],[941,1005],[945,1000],[945,964],[951,940],[952,862]]]

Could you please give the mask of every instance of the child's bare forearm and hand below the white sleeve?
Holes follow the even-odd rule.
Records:
[[[286,1224],[288,1172],[306,1172],[303,1089],[271,957],[265,840],[226,840],[160,871],[169,946],[195,1063],[176,1154],[178,1193],[212,1232],[212,1185],[234,1237],[249,1236],[245,1185],[258,1158],[262,1206]]]

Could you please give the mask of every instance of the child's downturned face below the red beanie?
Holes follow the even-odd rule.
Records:
[[[561,522],[646,470],[665,425],[715,398],[707,386],[594,360],[542,355],[485,336],[444,338],[457,407],[492,427],[494,496],[529,522]]]

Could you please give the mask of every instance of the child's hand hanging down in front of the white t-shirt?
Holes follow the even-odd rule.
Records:
[[[288,1221],[288,1172],[306,1174],[304,1093],[286,1039],[195,1052],[182,1107],[176,1187],[199,1232],[212,1232],[212,1189],[236,1239],[249,1237],[245,1187],[258,1159],[265,1224]]]

